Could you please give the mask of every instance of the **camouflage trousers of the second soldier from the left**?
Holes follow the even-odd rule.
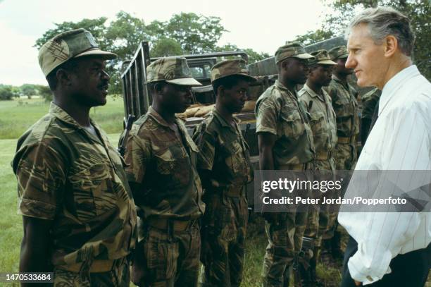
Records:
[[[135,250],[132,281],[137,286],[197,286],[201,237],[199,224],[185,231],[144,226],[144,239]]]

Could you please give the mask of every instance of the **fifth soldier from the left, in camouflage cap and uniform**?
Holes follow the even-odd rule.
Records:
[[[326,50],[319,50],[311,55],[315,59],[309,61],[308,80],[298,94],[299,100],[308,106],[311,118],[310,126],[313,130],[313,142],[316,149],[315,176],[320,176],[319,179],[323,180],[325,179],[323,177],[331,176],[331,172],[325,173],[325,171],[335,171],[334,149],[337,145],[337,123],[331,98],[322,87],[330,84],[332,67],[337,63],[330,60]],[[328,210],[324,206],[308,209],[307,228],[304,236],[313,238],[314,248],[308,270],[304,272],[306,276],[303,276],[303,286],[318,286],[316,264],[320,254],[322,235],[331,224],[328,215]]]

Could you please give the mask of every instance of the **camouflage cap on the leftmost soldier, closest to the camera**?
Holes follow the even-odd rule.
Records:
[[[65,61],[81,56],[97,55],[106,60],[117,55],[102,51],[92,33],[85,29],[70,30],[56,35],[39,49],[39,65],[45,77]]]

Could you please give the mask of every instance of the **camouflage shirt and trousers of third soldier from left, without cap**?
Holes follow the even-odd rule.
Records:
[[[202,137],[198,169],[211,171],[204,202],[203,240],[213,251],[205,266],[204,286],[239,286],[242,281],[244,243],[248,219],[246,183],[251,181],[249,148],[235,124],[232,127],[215,109],[196,129]]]

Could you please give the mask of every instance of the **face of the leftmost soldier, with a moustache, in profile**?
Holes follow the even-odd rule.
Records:
[[[96,57],[82,57],[71,75],[72,96],[84,106],[103,106],[108,94],[109,75],[105,61]]]

